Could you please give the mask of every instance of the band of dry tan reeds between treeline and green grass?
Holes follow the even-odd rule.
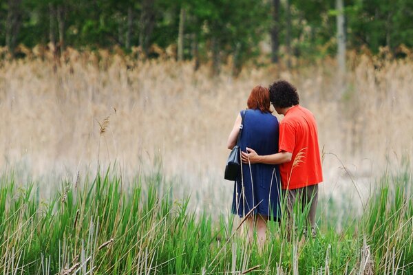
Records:
[[[57,60],[39,52],[0,63],[2,168],[19,164],[30,175],[55,170],[76,177],[99,158],[101,164],[116,159],[130,175],[161,155],[168,175],[207,192],[208,183],[225,184],[226,138],[249,92],[277,78],[297,86],[301,104],[317,118],[320,146],[353,173],[370,175],[386,156],[412,155],[411,59],[352,55],[341,89],[330,60],[291,72],[249,67],[239,78],[224,69],[211,78],[207,67],[193,72],[191,62],[72,49]],[[340,173],[333,157],[324,166],[327,179]]]

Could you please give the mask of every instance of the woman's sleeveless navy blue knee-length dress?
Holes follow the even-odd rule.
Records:
[[[278,152],[278,120],[271,113],[260,109],[246,110],[240,148],[254,149],[258,155],[271,155]],[[281,217],[279,198],[281,179],[277,165],[242,164],[242,173],[235,180],[233,214],[244,217],[257,206],[254,214],[262,214],[275,221]]]

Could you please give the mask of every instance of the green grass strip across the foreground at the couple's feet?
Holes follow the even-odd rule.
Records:
[[[286,241],[269,223],[262,251],[235,232],[232,215],[195,214],[190,197],[173,199],[177,183],[160,170],[132,182],[107,170],[79,183],[63,181],[43,201],[37,184],[0,182],[2,274],[413,274],[412,173],[377,182],[360,217],[319,214],[319,233]],[[229,195],[231,197],[231,195]],[[328,202],[332,210],[341,206]],[[350,211],[350,210],[349,210]],[[297,213],[297,228],[302,228]]]

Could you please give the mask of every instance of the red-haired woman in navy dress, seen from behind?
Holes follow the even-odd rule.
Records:
[[[259,155],[278,152],[278,120],[270,110],[268,89],[257,86],[247,100],[240,148],[257,148]],[[237,143],[242,118],[238,114],[233,130],[228,137],[228,148]],[[253,214],[246,219],[248,239],[253,239],[254,226],[257,228],[258,244],[266,240],[266,222],[268,219],[278,221],[281,217],[279,206],[280,178],[277,165],[242,164],[242,173],[235,180],[233,195],[233,214],[244,217],[251,209]]]

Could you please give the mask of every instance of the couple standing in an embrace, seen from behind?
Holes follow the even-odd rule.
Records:
[[[282,122],[272,115],[271,103]],[[228,148],[240,137],[242,173],[235,180],[232,211],[246,219],[248,239],[257,229],[260,246],[266,241],[266,222],[281,218],[280,200],[286,199],[288,224],[291,224],[295,203],[308,207],[308,225],[315,236],[315,212],[318,185],[322,179],[317,124],[313,113],[299,105],[293,85],[285,80],[269,89],[255,87],[247,101],[244,121],[238,114],[228,138]],[[281,190],[282,188],[282,190]],[[287,230],[291,230],[288,226]]]

